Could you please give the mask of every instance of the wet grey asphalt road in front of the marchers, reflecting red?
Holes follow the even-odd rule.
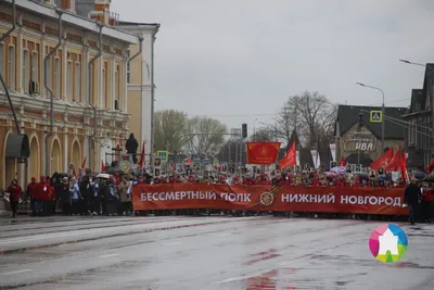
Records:
[[[407,254],[386,265],[368,248],[381,224],[2,217],[0,289],[434,289],[434,225],[405,225]]]

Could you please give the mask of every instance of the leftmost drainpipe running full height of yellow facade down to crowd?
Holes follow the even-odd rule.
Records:
[[[48,75],[48,63],[50,61],[51,55],[54,54],[54,52],[60,48],[62,45],[62,11],[56,10],[55,11],[59,15],[59,29],[58,29],[58,45],[46,55],[43,59],[43,87],[46,90],[50,93],[50,131],[46,136],[44,139],[44,146],[46,146],[46,175],[50,175],[50,169],[51,169],[51,157],[50,157],[50,148],[48,146],[48,140],[50,139],[51,136],[53,136],[54,131],[54,93],[53,91],[48,87],[48,78],[51,77]]]

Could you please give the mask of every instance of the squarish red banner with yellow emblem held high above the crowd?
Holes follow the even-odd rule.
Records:
[[[280,142],[246,142],[247,164],[275,164],[280,151]]]

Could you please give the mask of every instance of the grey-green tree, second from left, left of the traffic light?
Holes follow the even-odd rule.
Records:
[[[228,131],[226,125],[209,117],[193,117],[189,121],[187,148],[190,152],[202,154],[218,152]]]

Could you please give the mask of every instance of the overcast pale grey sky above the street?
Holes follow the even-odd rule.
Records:
[[[272,123],[289,96],[407,106],[434,62],[431,0],[113,0],[124,21],[161,23],[156,110]],[[256,126],[259,126],[256,123]]]

